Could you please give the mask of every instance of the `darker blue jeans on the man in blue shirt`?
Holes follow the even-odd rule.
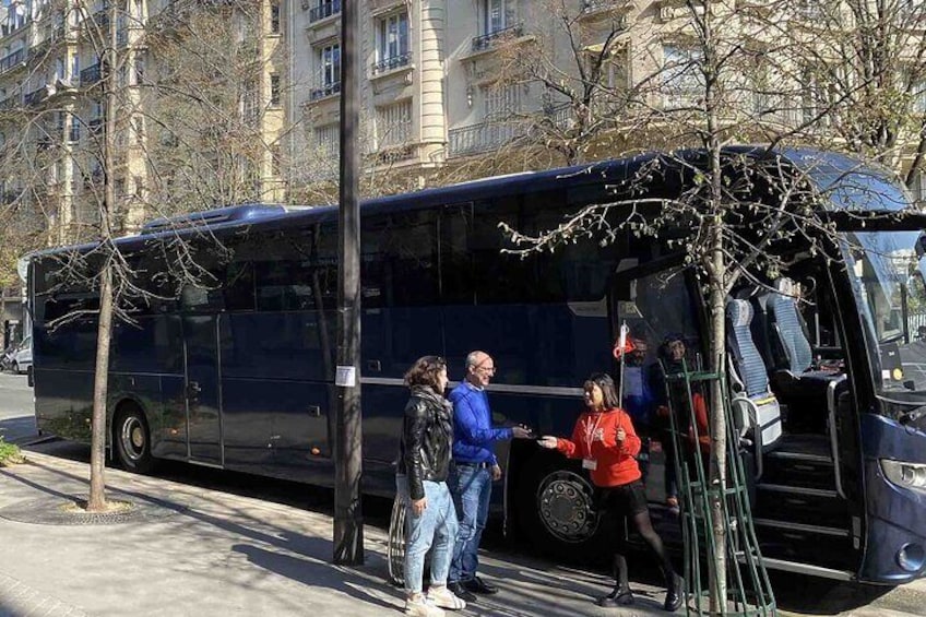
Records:
[[[456,464],[447,479],[460,519],[460,533],[453,547],[450,581],[471,581],[479,567],[479,542],[489,515],[491,470]]]

